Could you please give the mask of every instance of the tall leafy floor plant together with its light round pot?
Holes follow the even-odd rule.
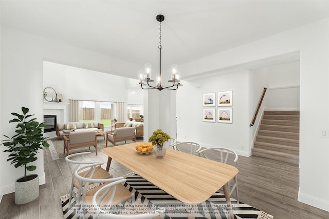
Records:
[[[33,171],[36,166],[29,165],[36,161],[36,153],[43,147],[49,147],[43,136],[44,124],[36,121],[36,118],[30,118],[33,115],[27,114],[28,108],[22,107],[23,115],[12,112],[16,116],[9,123],[17,123],[16,134],[11,138],[4,135],[7,139],[3,140],[1,145],[6,146],[9,152],[10,164],[15,168],[24,167],[24,176],[15,181],[15,204],[25,204],[39,197],[39,176],[37,174],[27,175],[27,171]],[[42,147],[43,146],[43,147]],[[29,165],[29,166],[28,166]]]

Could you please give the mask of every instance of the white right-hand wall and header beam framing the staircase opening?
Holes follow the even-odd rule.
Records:
[[[180,65],[182,78],[300,51],[298,200],[329,211],[329,19]],[[183,76],[183,74],[185,74]],[[234,103],[233,103],[234,104]],[[313,115],[312,118],[310,115]],[[318,153],[317,153],[318,152]],[[319,171],[314,171],[319,170]],[[316,186],[314,182],[316,181]]]

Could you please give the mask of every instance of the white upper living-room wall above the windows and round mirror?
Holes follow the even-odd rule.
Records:
[[[126,77],[44,62],[44,88],[52,87],[69,99],[126,102]],[[137,80],[136,80],[137,81]]]

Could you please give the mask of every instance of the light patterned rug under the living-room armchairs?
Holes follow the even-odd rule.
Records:
[[[142,141],[142,139],[136,139],[136,142]],[[53,138],[52,140],[48,140],[47,143],[49,144],[49,151],[52,157],[52,160],[58,160],[61,158],[64,158],[67,156],[67,152],[65,151],[65,154],[63,153],[63,140],[61,138]],[[129,144],[134,143],[133,141],[126,141],[124,142],[118,142],[116,145],[123,145],[123,144]],[[107,147],[113,146],[111,143],[107,143]],[[103,138],[103,136],[97,137],[97,151],[99,152],[102,148],[106,147],[106,142]],[[70,149],[70,154],[74,153],[80,153],[80,152],[86,152],[90,151],[92,153],[96,153],[96,150],[94,147],[90,147],[90,150],[88,147],[82,147],[77,149]]]

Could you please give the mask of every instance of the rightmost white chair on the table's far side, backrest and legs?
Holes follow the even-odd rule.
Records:
[[[221,163],[227,164],[228,162],[236,167],[237,164],[237,153],[231,149],[227,148],[206,148],[198,151],[199,156],[202,154],[205,158],[213,161],[219,161]],[[234,176],[233,184],[230,182],[227,183],[230,196],[235,190],[236,201],[239,204],[239,193],[237,192],[237,175]]]

